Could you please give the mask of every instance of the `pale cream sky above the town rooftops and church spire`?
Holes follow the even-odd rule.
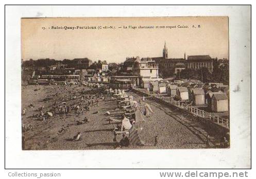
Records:
[[[87,57],[92,61],[121,63],[126,57],[162,57],[165,41],[168,58],[183,58],[184,52],[229,58],[228,17],[82,17],[21,21],[24,60]],[[131,29],[129,25],[165,28]],[[178,25],[189,28],[177,28]],[[192,28],[193,25],[200,28]],[[48,29],[52,26],[115,26],[116,29]],[[118,28],[123,26],[127,29]]]

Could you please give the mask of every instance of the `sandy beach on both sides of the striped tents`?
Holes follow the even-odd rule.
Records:
[[[32,130],[23,132],[25,136],[25,150],[88,150],[88,149],[120,149],[113,141],[113,129],[121,122],[111,121],[109,117],[121,118],[122,110],[117,109],[116,101],[107,97],[104,101],[98,102],[98,106],[91,106],[90,111],[80,115],[71,111],[69,115],[56,114],[53,117],[42,121],[35,117],[37,109],[44,105],[44,111],[49,111],[54,102],[60,97],[56,93],[67,96],[77,96],[78,99],[67,100],[68,105],[79,103],[81,92],[91,90],[84,86],[43,86],[30,85],[22,87],[22,108],[26,114],[22,116],[23,124],[31,124]],[[96,89],[95,89],[96,90]],[[132,95],[133,100],[142,100],[142,96],[127,92]],[[47,99],[47,100],[45,100]],[[193,148],[214,148],[214,142],[220,140],[220,136],[206,132],[201,123],[187,115],[182,110],[171,108],[146,98],[154,114],[145,118],[145,121],[135,124],[139,137],[145,146],[129,146],[122,149],[193,149]],[[28,108],[29,104],[33,108]],[[109,111],[110,115],[106,116]],[[33,117],[34,115],[34,117]],[[77,124],[84,117],[89,123]],[[73,140],[78,132],[81,138]],[[210,145],[207,145],[207,134],[210,136]],[[154,146],[155,137],[157,145]],[[117,142],[122,135],[117,135]],[[117,148],[116,148],[117,147]]]

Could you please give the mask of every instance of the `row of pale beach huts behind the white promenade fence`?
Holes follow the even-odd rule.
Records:
[[[193,105],[208,105],[212,112],[229,111],[229,86],[223,83],[195,83],[191,81],[152,81],[147,88],[151,93],[156,92],[172,96],[179,101],[191,101]]]

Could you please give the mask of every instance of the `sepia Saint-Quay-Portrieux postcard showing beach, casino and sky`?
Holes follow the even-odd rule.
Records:
[[[230,148],[229,18],[21,19],[22,149]]]

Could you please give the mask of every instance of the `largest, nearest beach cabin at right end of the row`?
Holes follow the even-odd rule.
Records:
[[[226,94],[213,94],[212,96],[212,111],[227,112],[229,111],[229,102]]]

